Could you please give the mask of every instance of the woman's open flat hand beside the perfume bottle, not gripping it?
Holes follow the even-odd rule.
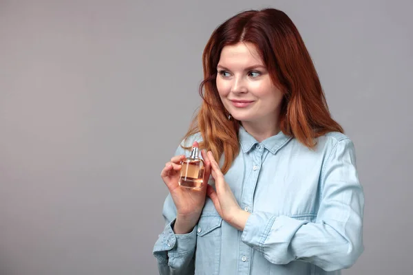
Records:
[[[215,209],[218,211],[222,219],[237,228],[244,230],[246,220],[250,213],[242,210],[235,199],[231,188],[226,183],[224,175],[221,172],[220,166],[215,161],[212,152],[207,153],[207,158],[211,162],[211,175],[215,179],[215,189],[212,186],[207,187],[207,195],[211,198]]]

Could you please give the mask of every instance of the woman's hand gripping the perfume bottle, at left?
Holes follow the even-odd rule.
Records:
[[[193,146],[199,146],[198,142],[193,142]],[[211,164],[204,150],[201,151],[201,155],[206,160],[204,160],[204,183],[200,190],[184,188],[178,184],[182,168],[180,163],[186,158],[185,155],[172,157],[171,161],[165,164],[165,168],[160,174],[176,206],[176,221],[173,226],[173,231],[176,234],[191,232],[200,218],[202,208],[204,208]]]

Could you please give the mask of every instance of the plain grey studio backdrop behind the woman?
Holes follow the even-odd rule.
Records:
[[[233,14],[293,19],[357,149],[366,251],[411,274],[412,1],[0,0],[0,274],[157,274],[160,170]]]

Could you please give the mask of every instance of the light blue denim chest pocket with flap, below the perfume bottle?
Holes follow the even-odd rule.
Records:
[[[195,274],[215,275],[220,268],[222,218],[202,214],[196,231]]]

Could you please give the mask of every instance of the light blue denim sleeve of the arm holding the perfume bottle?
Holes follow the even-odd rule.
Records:
[[[176,155],[184,151],[178,147]],[[188,234],[175,234],[173,225],[176,221],[176,206],[169,194],[162,209],[165,220],[165,229],[158,236],[153,246],[153,256],[158,262],[158,271],[161,275],[193,274],[195,270],[196,226]]]

